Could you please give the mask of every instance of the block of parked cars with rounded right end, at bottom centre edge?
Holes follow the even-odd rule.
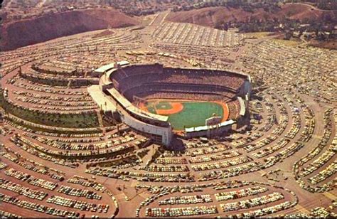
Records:
[[[269,215],[293,208],[298,201],[295,193],[288,189],[271,186],[268,183],[247,181],[151,188],[139,186],[139,188],[147,188],[153,195],[146,198],[137,208],[137,217],[223,215],[223,213],[226,215],[237,213],[241,216]],[[219,190],[221,192],[217,192]],[[191,193],[193,195],[190,195]],[[232,199],[237,201],[231,202]],[[236,212],[231,212],[234,210]]]

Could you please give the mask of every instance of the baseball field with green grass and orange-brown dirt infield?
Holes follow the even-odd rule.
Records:
[[[203,126],[205,119],[214,114],[223,117],[223,121],[228,119],[228,107],[222,102],[149,100],[139,107],[147,112],[168,116],[175,130]]]

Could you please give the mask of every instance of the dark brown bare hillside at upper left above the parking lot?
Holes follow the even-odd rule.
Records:
[[[11,50],[85,31],[138,25],[132,18],[114,9],[85,9],[4,23],[1,47]]]

